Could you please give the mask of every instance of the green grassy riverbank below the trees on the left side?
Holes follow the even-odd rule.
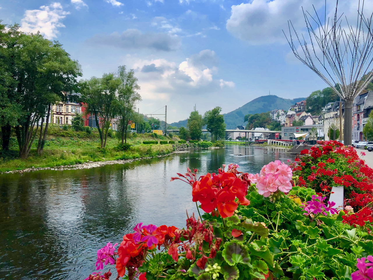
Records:
[[[135,145],[126,151],[116,149],[120,140],[112,135],[108,137],[106,148],[99,149],[100,137],[98,132],[90,134],[84,131],[64,131],[53,127],[50,130],[46,146],[42,155],[38,156],[36,147],[30,152],[27,159],[18,158],[17,142],[12,137],[11,150],[0,155],[0,172],[22,170],[30,167],[56,167],[62,165],[81,164],[87,161],[110,161],[117,159],[135,159],[151,156],[166,155],[173,151],[172,145],[144,145],[142,141],[179,140],[153,134],[130,134],[127,138],[129,144]]]

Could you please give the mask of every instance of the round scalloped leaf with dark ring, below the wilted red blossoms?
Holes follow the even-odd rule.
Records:
[[[238,240],[226,242],[224,244],[222,256],[229,265],[236,265],[239,263],[250,265],[250,256],[247,247]]]

